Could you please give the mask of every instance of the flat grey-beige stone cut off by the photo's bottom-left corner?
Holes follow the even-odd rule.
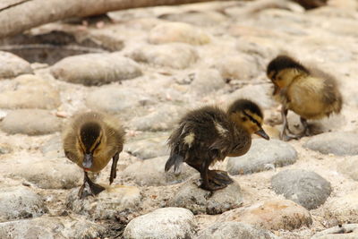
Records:
[[[98,238],[107,228],[83,218],[41,217],[0,223],[0,238]]]

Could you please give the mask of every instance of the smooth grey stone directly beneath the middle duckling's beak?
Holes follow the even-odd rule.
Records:
[[[230,175],[247,175],[292,165],[296,160],[297,151],[289,143],[255,139],[245,155],[228,158],[226,169]]]

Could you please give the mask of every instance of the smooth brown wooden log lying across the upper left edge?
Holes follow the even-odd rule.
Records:
[[[157,5],[192,4],[214,0],[2,0],[0,38],[70,17]]]

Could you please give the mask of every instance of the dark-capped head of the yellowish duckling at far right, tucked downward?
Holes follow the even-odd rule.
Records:
[[[301,74],[309,74],[309,71],[300,63],[287,55],[278,55],[268,64],[268,78],[274,83],[274,95],[294,81]]]

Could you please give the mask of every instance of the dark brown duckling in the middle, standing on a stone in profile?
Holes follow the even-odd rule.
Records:
[[[247,99],[234,101],[227,112],[218,107],[190,111],[168,139],[171,151],[165,171],[175,166],[177,172],[185,162],[200,172],[200,188],[210,192],[225,188],[233,180],[225,171],[209,170],[209,166],[226,156],[245,154],[251,147],[251,133],[268,140],[262,119],[260,107]]]

